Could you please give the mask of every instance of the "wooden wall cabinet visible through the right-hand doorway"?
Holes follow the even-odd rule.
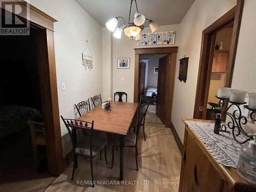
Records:
[[[225,74],[228,66],[229,51],[217,50],[214,52],[211,73]]]

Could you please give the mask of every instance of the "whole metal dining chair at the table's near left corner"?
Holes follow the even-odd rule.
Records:
[[[94,121],[84,122],[78,121],[76,119],[65,119],[62,117],[62,115],[60,117],[68,129],[73,146],[74,163],[71,180],[74,179],[75,169],[78,167],[77,156],[81,156],[90,158],[91,177],[92,183],[94,183],[93,158],[104,148],[105,161],[106,164],[108,164],[108,160],[106,159],[106,143],[108,142],[107,139],[96,136],[93,133]],[[86,134],[86,132],[90,132],[90,134]],[[92,187],[94,187],[94,184]]]

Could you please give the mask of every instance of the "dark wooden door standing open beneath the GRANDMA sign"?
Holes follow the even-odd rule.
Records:
[[[162,121],[165,123],[165,114],[166,114],[166,92],[167,92],[167,79],[168,79],[168,55],[159,59],[158,66],[158,82],[157,82],[157,106],[156,114]]]

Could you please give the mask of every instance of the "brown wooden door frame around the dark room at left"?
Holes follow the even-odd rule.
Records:
[[[42,110],[44,112],[46,146],[48,156],[48,172],[58,176],[63,171],[63,156],[59,121],[59,106],[57,92],[57,78],[54,51],[54,22],[57,20],[40,11],[27,2],[16,1],[22,8],[30,11],[30,17],[19,15],[20,19],[28,19],[30,27],[37,30],[39,39],[37,44],[40,49],[37,55],[39,72],[39,87]],[[0,8],[4,10],[3,8]],[[2,12],[2,14],[4,14]]]

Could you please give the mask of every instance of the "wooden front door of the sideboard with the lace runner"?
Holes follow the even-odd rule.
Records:
[[[193,135],[187,134],[180,192],[223,191],[224,181],[198,147]]]

